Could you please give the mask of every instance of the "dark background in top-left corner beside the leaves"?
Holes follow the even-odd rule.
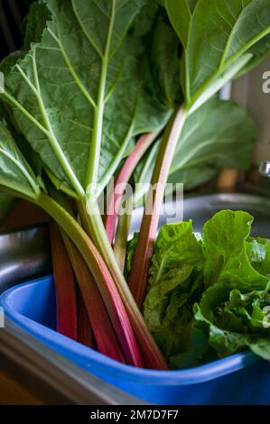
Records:
[[[32,0],[0,0],[0,60],[23,43],[23,18]]]

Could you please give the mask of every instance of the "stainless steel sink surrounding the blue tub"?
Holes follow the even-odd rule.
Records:
[[[176,205],[181,207],[181,204]],[[253,235],[270,238],[270,199],[251,194],[207,194],[186,197],[184,219],[192,219],[195,231],[220,209],[247,210],[254,218]],[[132,232],[137,231],[143,209],[135,210]],[[160,225],[166,221],[161,215]],[[21,281],[51,272],[50,244],[46,226],[0,235],[0,292]],[[83,372],[77,365],[51,351],[24,332],[6,322],[0,329],[0,354],[21,363],[29,373],[51,384],[72,403],[139,404],[126,393]]]

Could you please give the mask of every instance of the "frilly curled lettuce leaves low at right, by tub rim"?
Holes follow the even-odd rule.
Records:
[[[266,290],[243,294],[219,283],[203,294],[200,305],[194,305],[195,327],[205,325],[209,346],[219,357],[249,347],[270,360],[270,329],[265,326],[264,312],[270,304],[269,289],[270,285]]]

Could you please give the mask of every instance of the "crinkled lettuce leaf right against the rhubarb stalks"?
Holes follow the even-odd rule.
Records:
[[[167,359],[189,344],[192,305],[202,287],[202,261],[201,241],[191,221],[162,227],[154,244],[144,320]]]

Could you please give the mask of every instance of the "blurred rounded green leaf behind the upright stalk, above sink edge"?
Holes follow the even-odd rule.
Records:
[[[223,168],[247,170],[255,139],[256,125],[244,108],[213,98],[184,124],[169,182],[183,183],[184,189],[193,189],[211,180]],[[154,145],[140,163],[135,171],[135,182],[151,180],[157,147]],[[137,202],[139,195],[135,198]]]

